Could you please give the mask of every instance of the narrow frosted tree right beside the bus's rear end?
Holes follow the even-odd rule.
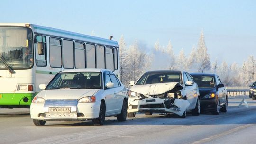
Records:
[[[127,49],[126,49],[126,43],[124,40],[124,36],[122,35],[119,41],[119,63],[120,63],[120,80],[126,81],[127,80]]]

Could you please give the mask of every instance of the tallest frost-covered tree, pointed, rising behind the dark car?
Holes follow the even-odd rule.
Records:
[[[209,70],[210,56],[207,53],[207,47],[205,45],[203,31],[201,31],[196,52],[198,72],[204,72],[205,70]]]

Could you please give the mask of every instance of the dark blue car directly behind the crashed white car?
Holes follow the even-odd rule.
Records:
[[[228,110],[228,95],[224,84],[216,74],[191,73],[200,93],[201,111],[211,111],[215,115]]]

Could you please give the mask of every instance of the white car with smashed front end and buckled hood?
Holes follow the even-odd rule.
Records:
[[[135,117],[136,112],[174,113],[182,118],[186,111],[200,114],[199,89],[188,72],[148,71],[130,85],[133,87],[128,92],[128,117]]]

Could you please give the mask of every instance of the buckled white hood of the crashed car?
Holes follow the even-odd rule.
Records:
[[[167,91],[176,88],[177,90],[182,90],[183,87],[178,82],[168,82],[168,83],[154,83],[145,85],[134,85],[130,90],[145,94],[145,95],[159,95]]]

